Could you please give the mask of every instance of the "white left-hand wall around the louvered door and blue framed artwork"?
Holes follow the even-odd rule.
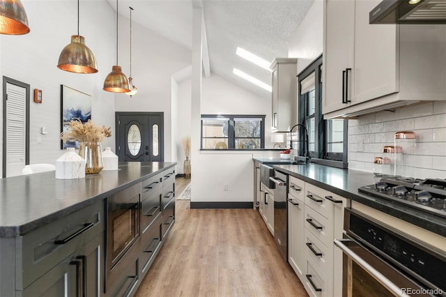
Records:
[[[33,89],[43,91],[42,104],[30,98],[30,162],[54,163],[63,154],[59,138],[61,84],[90,94],[93,121],[112,126],[114,131],[114,95],[102,91],[114,63],[114,12],[106,1],[81,1],[79,33],[95,54],[99,68],[96,74],[81,75],[56,68],[61,50],[70,43],[71,35],[77,34],[77,2],[22,2],[31,32],[23,36],[0,36],[0,74],[30,84],[31,97]],[[39,133],[41,126],[48,129],[47,135]],[[114,137],[105,139],[103,144],[114,149]]]

